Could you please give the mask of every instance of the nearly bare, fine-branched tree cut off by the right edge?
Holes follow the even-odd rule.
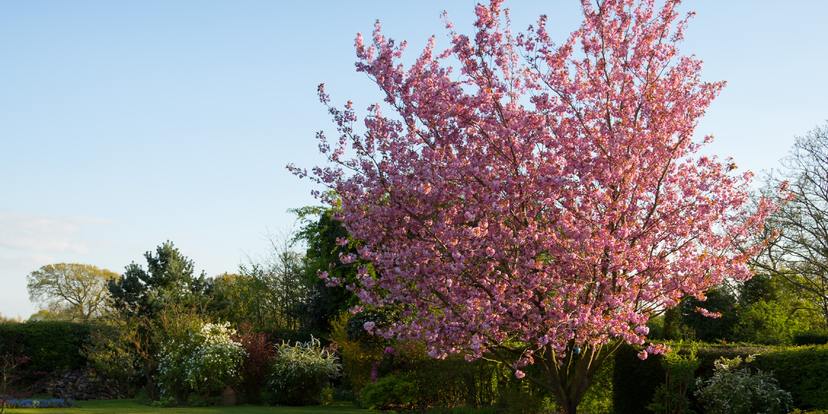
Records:
[[[768,221],[779,237],[753,265],[796,287],[819,306],[828,327],[828,124],[796,139],[768,187],[789,183],[787,203]]]

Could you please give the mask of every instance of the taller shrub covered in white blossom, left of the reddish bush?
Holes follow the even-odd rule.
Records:
[[[158,383],[167,398],[189,393],[209,396],[238,382],[246,352],[227,323],[205,323],[201,329],[164,345]]]

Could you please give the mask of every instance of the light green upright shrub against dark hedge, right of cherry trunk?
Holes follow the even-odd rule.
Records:
[[[688,391],[693,386],[699,365],[694,346],[664,354],[661,358],[664,383],[656,388],[653,402],[647,408],[659,414],[692,412]]]

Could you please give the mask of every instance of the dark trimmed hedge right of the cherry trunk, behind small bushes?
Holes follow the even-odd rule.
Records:
[[[676,347],[678,345],[674,345]],[[613,408],[616,414],[646,413],[656,387],[664,382],[660,356],[641,361],[638,349],[624,346],[615,355]],[[697,378],[713,374],[713,362],[721,357],[756,355],[753,366],[771,373],[782,389],[791,393],[794,405],[806,409],[828,408],[828,345],[772,347],[755,345],[699,344]],[[691,396],[692,401],[692,396]]]

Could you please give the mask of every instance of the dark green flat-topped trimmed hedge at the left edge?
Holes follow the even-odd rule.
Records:
[[[28,357],[21,368],[27,376],[80,369],[86,366],[81,351],[91,332],[91,325],[74,322],[0,323],[0,355]]]

